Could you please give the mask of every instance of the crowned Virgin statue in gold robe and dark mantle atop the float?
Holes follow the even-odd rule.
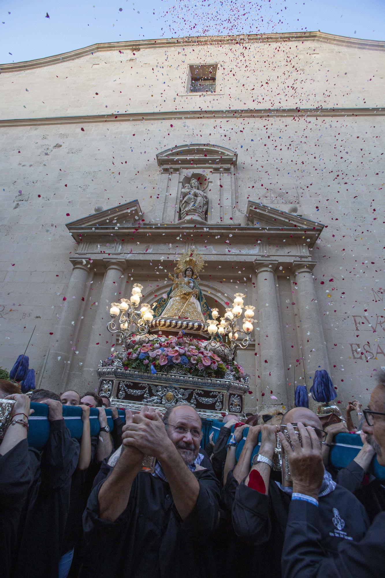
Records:
[[[190,262],[195,265],[195,271]],[[184,267],[184,265],[187,266]],[[197,280],[196,275],[197,269],[200,271],[202,266],[203,259],[195,251],[180,258],[175,268],[175,276],[169,275],[172,279],[172,287],[166,297],[160,299],[153,307],[156,317],[203,322],[212,319],[211,309],[202,294],[198,284],[199,277]]]

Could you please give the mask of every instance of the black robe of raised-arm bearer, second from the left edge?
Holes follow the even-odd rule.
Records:
[[[51,421],[50,427],[40,476],[31,487],[25,521],[20,527],[15,578],[58,576],[71,476],[79,458],[79,443],[71,438],[64,419]]]

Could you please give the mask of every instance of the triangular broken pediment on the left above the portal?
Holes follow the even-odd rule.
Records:
[[[94,229],[119,230],[120,227],[133,227],[142,216],[142,209],[137,199],[128,201],[122,205],[111,207],[95,214],[82,217],[71,223],[66,223],[66,228],[72,235],[79,231]]]

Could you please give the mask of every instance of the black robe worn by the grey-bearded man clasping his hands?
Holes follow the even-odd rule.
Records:
[[[169,484],[139,472],[127,508],[114,522],[99,518],[101,481],[83,516],[86,551],[82,578],[197,578],[216,576],[212,533],[219,510],[219,483],[210,469],[194,475],[199,494],[182,520]]]

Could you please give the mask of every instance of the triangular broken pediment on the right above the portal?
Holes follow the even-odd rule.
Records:
[[[262,203],[249,201],[246,209],[247,224],[249,227],[272,228],[272,229],[303,229],[313,231],[320,235],[324,225],[295,213],[286,213],[279,209],[273,209]]]

